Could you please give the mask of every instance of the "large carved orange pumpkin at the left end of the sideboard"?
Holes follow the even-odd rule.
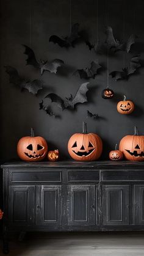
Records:
[[[22,137],[17,145],[18,156],[24,161],[41,161],[45,158],[48,145],[43,137],[34,136],[31,128],[31,136]]]

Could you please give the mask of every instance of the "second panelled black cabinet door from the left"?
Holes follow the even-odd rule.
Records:
[[[37,186],[37,225],[60,225],[62,186]]]

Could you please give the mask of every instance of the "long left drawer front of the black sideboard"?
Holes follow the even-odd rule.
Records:
[[[59,170],[11,170],[10,183],[16,182],[62,182]]]

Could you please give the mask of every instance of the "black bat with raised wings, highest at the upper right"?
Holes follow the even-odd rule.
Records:
[[[130,37],[126,42],[120,42],[113,37],[112,27],[110,26],[108,26],[106,29],[106,35],[107,35],[107,38],[106,38],[107,47],[109,49],[113,49],[114,52],[121,50],[121,51],[127,51],[127,53],[129,53],[129,51],[131,50],[131,46],[135,43],[135,38],[136,38],[136,36],[132,34],[130,35]]]

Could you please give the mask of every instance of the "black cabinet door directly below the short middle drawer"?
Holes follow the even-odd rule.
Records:
[[[95,185],[68,186],[68,225],[95,225],[96,208]]]

